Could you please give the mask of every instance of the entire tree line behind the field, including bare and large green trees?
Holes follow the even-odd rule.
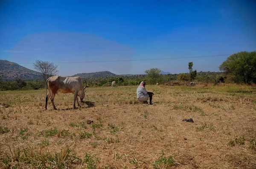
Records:
[[[146,81],[148,85],[155,85],[156,83],[166,84],[171,81],[178,81],[189,83],[192,81],[206,82],[206,83],[239,83],[252,84],[256,83],[256,51],[247,52],[242,51],[230,55],[225,60],[219,69],[222,72],[197,72],[193,70],[193,62],[188,63],[188,73],[179,74],[160,74],[160,69],[151,68],[145,70],[145,74],[119,76],[119,77],[104,77],[104,78],[87,78],[88,87],[111,86],[113,81],[116,85],[139,85],[141,81]],[[58,65],[51,62],[44,62],[36,60],[34,68],[41,72],[44,80],[41,81],[25,81],[23,79],[15,79],[14,81],[3,81],[0,78],[0,90],[37,90],[45,87],[45,81],[58,73]]]

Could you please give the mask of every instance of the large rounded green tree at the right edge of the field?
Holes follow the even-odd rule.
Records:
[[[242,51],[230,55],[219,69],[236,83],[256,83],[256,51]]]

